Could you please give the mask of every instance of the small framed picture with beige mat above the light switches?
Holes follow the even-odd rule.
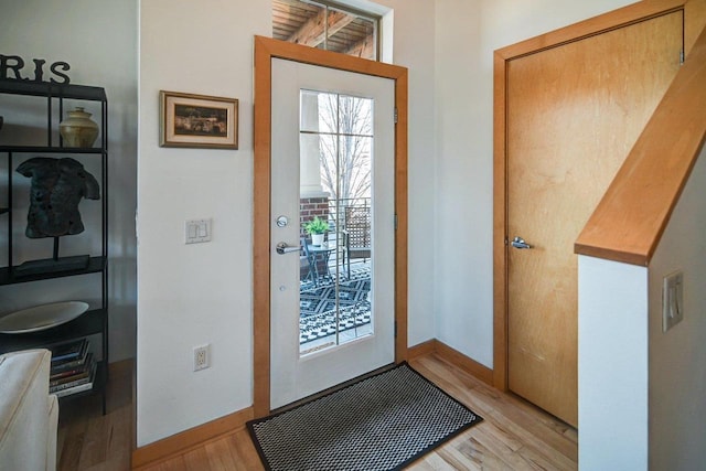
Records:
[[[238,100],[159,93],[161,147],[238,148]]]

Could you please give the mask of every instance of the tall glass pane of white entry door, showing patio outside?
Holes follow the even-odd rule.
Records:
[[[371,98],[300,93],[300,355],[374,333],[372,111]]]

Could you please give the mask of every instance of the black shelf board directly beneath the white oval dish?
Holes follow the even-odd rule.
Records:
[[[50,343],[60,343],[82,336],[95,335],[103,332],[107,322],[108,311],[94,309],[86,311],[71,322],[28,333],[0,333],[0,354],[17,350],[41,349]]]

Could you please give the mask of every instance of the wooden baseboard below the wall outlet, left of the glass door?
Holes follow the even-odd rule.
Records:
[[[245,427],[245,422],[253,418],[253,407],[248,407],[140,447],[132,452],[132,469],[139,470],[148,464],[153,465],[160,461],[189,452],[196,447],[202,447],[208,441],[216,440],[224,435]]]

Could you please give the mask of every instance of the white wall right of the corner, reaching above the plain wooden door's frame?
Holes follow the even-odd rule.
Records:
[[[493,51],[631,1],[437,0],[437,338],[493,365]]]

